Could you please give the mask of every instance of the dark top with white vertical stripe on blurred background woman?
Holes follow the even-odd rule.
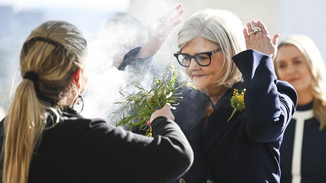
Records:
[[[282,183],[326,182],[326,130],[319,125],[312,102],[297,106],[280,148]]]

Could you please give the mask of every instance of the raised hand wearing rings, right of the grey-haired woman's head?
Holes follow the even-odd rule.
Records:
[[[247,28],[243,29],[243,34],[247,49],[255,49],[274,59],[277,52],[279,34],[277,33],[271,38],[266,26],[260,20],[251,20],[246,25]]]

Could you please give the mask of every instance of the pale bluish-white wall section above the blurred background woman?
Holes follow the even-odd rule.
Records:
[[[291,33],[309,36],[326,61],[326,1],[277,0],[276,30],[285,37]]]

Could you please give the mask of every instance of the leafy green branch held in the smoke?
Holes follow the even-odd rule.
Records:
[[[146,131],[147,136],[151,136],[151,127],[146,125],[150,115],[156,110],[170,103],[175,109],[178,102],[183,99],[183,88],[188,85],[187,80],[178,75],[178,70],[174,65],[167,65],[166,71],[158,73],[158,77],[153,78],[152,86],[149,90],[135,84],[135,92],[122,94],[124,99],[116,102],[118,109],[113,112],[116,125],[129,126],[129,130],[134,127]]]

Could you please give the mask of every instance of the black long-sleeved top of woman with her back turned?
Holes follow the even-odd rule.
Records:
[[[180,177],[193,162],[185,135],[166,117],[151,125],[153,137],[146,137],[69,109],[42,133],[28,182],[152,183]]]

